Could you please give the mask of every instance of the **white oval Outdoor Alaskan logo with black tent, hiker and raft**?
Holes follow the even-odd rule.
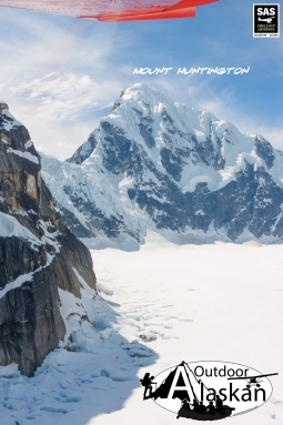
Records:
[[[143,399],[153,399],[176,418],[218,421],[241,415],[264,404],[272,394],[267,376],[251,367],[226,362],[182,362],[142,380]]]

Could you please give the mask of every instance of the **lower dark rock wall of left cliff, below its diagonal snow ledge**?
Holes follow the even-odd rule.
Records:
[[[0,300],[0,364],[19,364],[32,375],[46,355],[58,347],[65,333],[59,311],[54,272],[36,273],[32,282],[9,291]]]

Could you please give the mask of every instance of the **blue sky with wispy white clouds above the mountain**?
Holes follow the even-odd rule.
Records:
[[[283,36],[254,39],[252,10],[250,0],[221,0],[198,8],[194,19],[104,23],[0,8],[0,99],[37,149],[59,159],[73,153],[134,82],[246,134],[260,132],[283,150]],[[133,74],[145,67],[173,70]],[[179,67],[250,72],[178,75]]]

